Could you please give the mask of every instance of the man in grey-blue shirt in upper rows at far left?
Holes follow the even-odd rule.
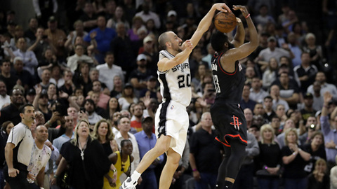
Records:
[[[16,46],[18,50],[15,50],[13,55],[15,55],[15,57],[21,57],[24,64],[23,69],[29,71],[29,73],[34,76],[35,69],[39,64],[35,53],[32,50],[27,50],[27,42],[23,37],[18,39]]]

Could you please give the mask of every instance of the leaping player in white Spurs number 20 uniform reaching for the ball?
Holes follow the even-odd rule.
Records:
[[[189,118],[186,106],[191,102],[191,75],[188,57],[209,29],[216,10],[231,12],[225,3],[216,3],[200,21],[190,40],[183,41],[174,32],[159,36],[158,80],[163,103],[156,113],[157,144],[140,161],[136,171],[121,185],[121,189],[136,188],[137,181],[159,155],[166,153],[166,165],[161,172],[159,189],[168,189],[185,147]]]

